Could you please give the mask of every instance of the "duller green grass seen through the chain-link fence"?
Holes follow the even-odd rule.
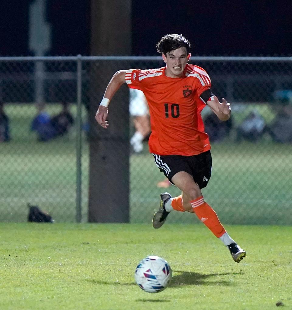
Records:
[[[47,143],[36,141],[29,131],[35,115],[31,104],[9,104],[11,118],[9,143],[0,144],[0,214],[1,221],[24,222],[26,203],[38,204],[47,210],[56,222],[75,221],[76,199],[76,128],[69,135]],[[239,122],[252,108],[234,110]],[[47,108],[51,114],[60,106]],[[262,111],[267,120],[271,111]],[[72,106],[72,113],[76,109]],[[85,113],[83,113],[85,117]],[[83,133],[82,156],[82,215],[87,221],[88,208],[88,142]],[[204,197],[214,207],[225,224],[281,224],[292,225],[292,145],[275,144],[264,139],[259,143],[236,144],[231,139],[213,144],[213,170]],[[113,163],[118,164],[118,162]],[[96,176],[100,177],[100,176]],[[155,166],[153,156],[145,151],[130,158],[130,218],[132,223],[149,223],[159,205],[157,188],[164,175]],[[122,180],[121,180],[122,181]],[[172,195],[180,191],[171,186]],[[122,193],[121,193],[122,194]],[[177,213],[169,217],[170,223],[197,223],[190,214]]]

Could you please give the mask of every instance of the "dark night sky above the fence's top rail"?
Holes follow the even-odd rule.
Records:
[[[28,47],[29,0],[0,4],[1,56],[32,55]],[[290,56],[291,1],[133,0],[132,55],[157,55],[167,33],[182,33],[192,55]],[[49,55],[90,55],[90,0],[48,0]]]

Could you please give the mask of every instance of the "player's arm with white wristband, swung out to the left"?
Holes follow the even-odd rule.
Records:
[[[110,79],[110,82],[106,86],[105,94],[103,95],[103,99],[98,107],[97,113],[95,115],[95,119],[99,123],[99,125],[103,128],[107,128],[109,126],[107,122],[108,110],[107,107],[110,103],[110,100],[113,98],[118,89],[125,83],[125,76],[127,70],[119,70],[117,71],[113,77]]]

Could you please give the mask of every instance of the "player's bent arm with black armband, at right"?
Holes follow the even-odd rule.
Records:
[[[210,89],[203,91],[200,98],[209,106],[212,112],[215,113],[221,121],[227,121],[230,118],[230,103],[227,103],[224,98],[222,98],[222,102],[220,102],[218,98],[212,94]]]

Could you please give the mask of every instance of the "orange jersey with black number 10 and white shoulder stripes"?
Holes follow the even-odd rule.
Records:
[[[158,155],[197,155],[210,149],[201,111],[203,91],[211,87],[207,72],[186,64],[181,78],[165,75],[159,69],[130,69],[126,83],[144,92],[150,111],[150,153]]]

